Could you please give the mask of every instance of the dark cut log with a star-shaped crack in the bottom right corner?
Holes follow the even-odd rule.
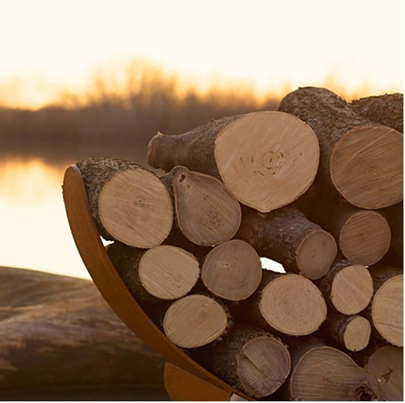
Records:
[[[375,375],[386,401],[403,401],[403,349],[384,346],[375,350],[364,367]]]

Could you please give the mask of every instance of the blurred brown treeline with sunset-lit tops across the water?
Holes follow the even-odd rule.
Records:
[[[143,75],[124,94],[97,80],[85,103],[49,105],[33,111],[0,107],[0,158],[40,157],[66,164],[89,156],[120,157],[145,164],[147,143],[157,132],[183,133],[213,118],[272,110],[276,99],[253,92],[192,88],[180,94],[173,77]],[[63,104],[63,103],[62,103]]]

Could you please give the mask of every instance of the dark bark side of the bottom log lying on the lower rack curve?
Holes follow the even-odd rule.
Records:
[[[250,396],[254,396],[252,390],[245,387],[238,375],[237,356],[240,354],[243,345],[263,336],[274,338],[271,333],[265,330],[239,324],[235,326],[223,343],[215,343],[209,347],[196,349],[192,354],[192,358],[229,385]],[[281,341],[278,337],[276,339]],[[280,381],[280,386],[282,383]]]

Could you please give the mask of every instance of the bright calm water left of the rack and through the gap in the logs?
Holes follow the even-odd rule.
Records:
[[[66,166],[40,159],[0,160],[0,266],[90,278],[66,218],[62,198]],[[269,259],[262,259],[262,264],[283,271]]]

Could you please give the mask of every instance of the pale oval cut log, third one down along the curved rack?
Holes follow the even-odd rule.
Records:
[[[222,340],[233,322],[219,302],[201,294],[185,296],[170,305],[163,319],[164,333],[175,345],[195,348]]]

